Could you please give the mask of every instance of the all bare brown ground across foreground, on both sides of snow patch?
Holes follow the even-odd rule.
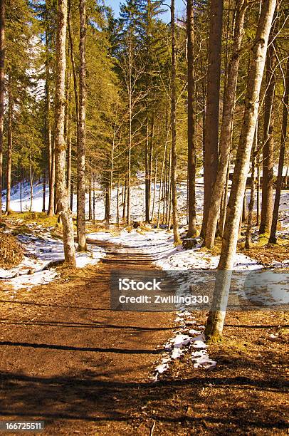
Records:
[[[2,420],[44,420],[46,435],[288,434],[284,313],[228,313],[214,370],[187,353],[152,383],[174,314],[110,311],[115,262],[2,297]]]

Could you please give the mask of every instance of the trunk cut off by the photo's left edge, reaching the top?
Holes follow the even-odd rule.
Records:
[[[2,177],[5,87],[5,0],[0,0],[0,222],[2,221]]]

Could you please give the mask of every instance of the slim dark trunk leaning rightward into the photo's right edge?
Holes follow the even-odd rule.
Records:
[[[278,164],[277,185],[276,185],[276,192],[275,192],[272,226],[270,229],[270,238],[269,238],[269,242],[271,244],[277,244],[276,231],[277,231],[280,195],[281,195],[282,182],[283,182],[283,166],[285,160],[285,147],[286,147],[287,123],[288,123],[288,93],[289,93],[289,58],[287,60],[287,71],[286,71],[285,90],[284,90],[284,98],[283,98],[283,120],[282,120],[281,146],[280,146],[280,155],[279,155],[279,164]]]

